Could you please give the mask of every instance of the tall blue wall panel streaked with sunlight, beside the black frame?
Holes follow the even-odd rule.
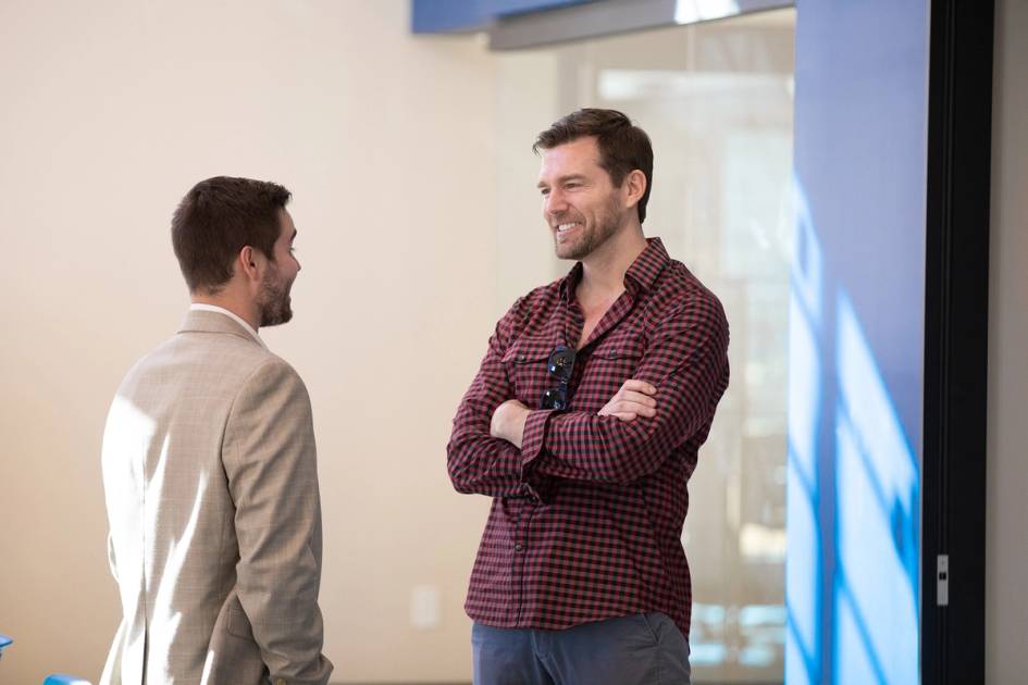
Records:
[[[928,3],[800,0],[787,677],[917,683]]]

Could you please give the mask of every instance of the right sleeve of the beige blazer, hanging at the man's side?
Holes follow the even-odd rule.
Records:
[[[222,446],[235,502],[239,602],[272,682],[323,684],[321,499],[310,398],[278,358],[244,383]]]

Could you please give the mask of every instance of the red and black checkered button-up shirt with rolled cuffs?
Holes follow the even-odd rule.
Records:
[[[660,611],[688,636],[686,482],[728,386],[728,322],[658,238],[578,350],[569,410],[532,411],[521,449],[490,436],[500,403],[537,408],[556,386],[547,360],[581,335],[581,275],[575,264],[513,304],[457,410],[450,479],[493,498],[465,608],[486,625],[552,630]],[[598,415],[629,378],[657,387],[656,416]]]

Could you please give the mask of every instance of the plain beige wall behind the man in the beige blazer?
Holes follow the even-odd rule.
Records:
[[[169,220],[215,174],[295,192],[296,319],[264,337],[313,400],[335,680],[470,680],[487,502],[444,448],[498,313],[497,67],[475,37],[410,36],[408,5],[0,3],[0,682],[99,675],[103,419],[181,322]],[[437,628],[410,627],[417,585]]]

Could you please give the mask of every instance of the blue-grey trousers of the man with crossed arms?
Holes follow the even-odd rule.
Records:
[[[563,631],[471,628],[474,685],[689,685],[689,643],[662,613]]]

